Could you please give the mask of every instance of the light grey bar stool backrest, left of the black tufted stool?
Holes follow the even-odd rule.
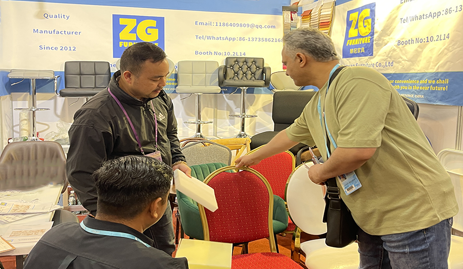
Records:
[[[216,61],[180,61],[177,64],[177,92],[220,92]]]

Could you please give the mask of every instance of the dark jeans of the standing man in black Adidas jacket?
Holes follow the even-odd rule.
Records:
[[[172,256],[175,250],[174,224],[172,223],[172,209],[167,201],[166,212],[161,219],[143,232],[154,240],[154,246]]]

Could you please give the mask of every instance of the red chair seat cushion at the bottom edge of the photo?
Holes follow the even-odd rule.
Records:
[[[231,256],[231,269],[301,269],[289,257],[280,253],[252,253]]]

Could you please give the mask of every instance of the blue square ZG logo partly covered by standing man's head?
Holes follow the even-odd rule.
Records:
[[[164,49],[164,17],[112,15],[113,57],[138,42],[151,42]]]

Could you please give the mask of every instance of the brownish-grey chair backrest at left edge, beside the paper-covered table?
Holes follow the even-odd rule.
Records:
[[[50,182],[64,184],[66,157],[53,141],[25,141],[6,145],[0,156],[0,189],[33,189]]]

